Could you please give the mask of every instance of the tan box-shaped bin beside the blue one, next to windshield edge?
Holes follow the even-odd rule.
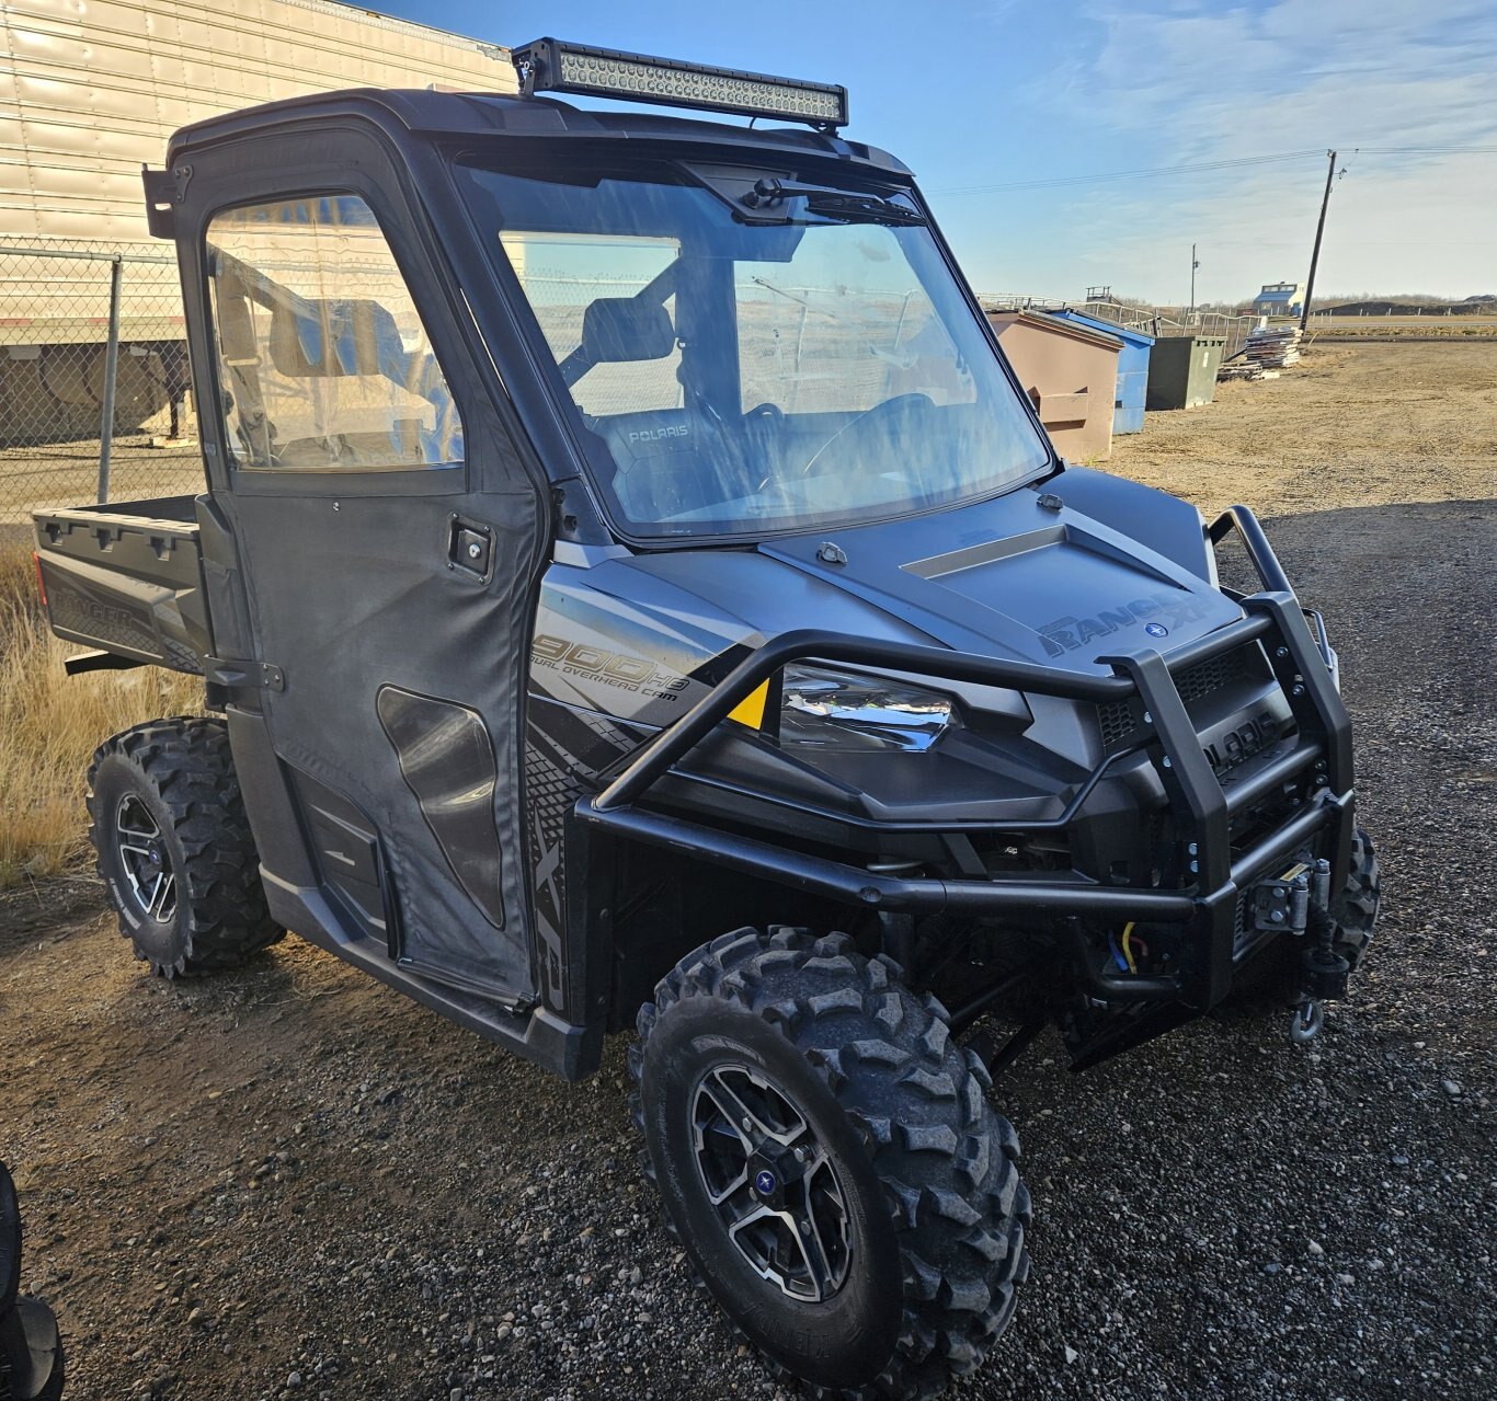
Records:
[[[990,311],[988,320],[1055,451],[1073,463],[1108,457],[1123,341],[1043,311]]]

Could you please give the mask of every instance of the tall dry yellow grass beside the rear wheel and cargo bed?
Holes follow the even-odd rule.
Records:
[[[0,543],[0,891],[82,862],[88,759],[103,739],[202,706],[201,681],[157,666],[69,677],[76,650],[46,627],[30,549]]]

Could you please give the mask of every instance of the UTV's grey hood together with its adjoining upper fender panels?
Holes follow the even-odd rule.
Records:
[[[1114,486],[1129,488],[1135,528],[1168,536],[1180,555],[1190,555],[1193,542],[1195,563],[1205,567],[1199,516],[1183,501],[1094,473],[1063,477],[1052,489],[1079,506]],[[1159,530],[1160,521],[1174,533]],[[536,620],[533,678],[551,699],[659,726],[748,651],[799,629],[1105,675],[1099,657],[1142,648],[1168,656],[1240,617],[1184,564],[1021,489],[750,549],[620,551],[591,566],[554,564]]]

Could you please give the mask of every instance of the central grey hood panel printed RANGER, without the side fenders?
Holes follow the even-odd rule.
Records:
[[[946,647],[1072,671],[1106,674],[1100,657],[1168,654],[1243,617],[1202,576],[1079,510],[1042,506],[1033,491],[760,552]]]

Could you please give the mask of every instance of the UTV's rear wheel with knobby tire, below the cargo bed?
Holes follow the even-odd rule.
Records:
[[[286,937],[222,720],[151,720],[99,747],[88,840],[135,956],[163,977],[238,967]]]

